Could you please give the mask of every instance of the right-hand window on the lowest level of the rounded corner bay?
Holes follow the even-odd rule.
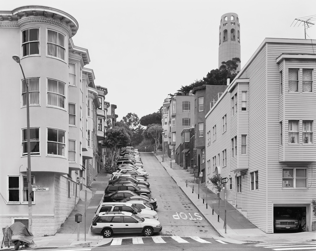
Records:
[[[65,156],[65,131],[47,128],[47,154]]]

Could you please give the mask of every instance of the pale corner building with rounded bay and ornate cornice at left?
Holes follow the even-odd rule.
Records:
[[[77,29],[74,17],[51,7],[0,11],[1,93],[6,93],[0,100],[0,224],[30,224],[26,88],[12,60],[16,54],[29,83],[32,184],[49,189],[33,193],[34,236],[55,234],[72,211],[87,185],[85,160],[96,151],[92,140],[98,145],[93,120],[99,93],[93,70],[84,68],[88,50],[72,42]],[[76,184],[77,177],[83,184]]]

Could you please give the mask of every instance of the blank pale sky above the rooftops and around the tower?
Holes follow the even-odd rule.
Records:
[[[86,67],[94,70],[95,85],[108,89],[106,100],[117,105],[119,120],[157,111],[168,93],[218,68],[223,14],[239,16],[241,67],[266,37],[304,39],[304,26],[290,26],[316,15],[314,0],[15,0],[1,1],[0,9],[34,4],[76,18],[74,44],[88,49]],[[316,39],[316,25],[307,35]]]

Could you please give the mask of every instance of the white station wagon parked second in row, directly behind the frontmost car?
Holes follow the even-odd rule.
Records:
[[[134,206],[131,202],[103,202],[99,205],[95,211],[95,214],[98,215],[100,212],[107,211],[131,212],[141,218],[151,218],[158,220],[156,211],[151,210],[150,207],[144,207],[144,209],[140,209],[137,206]]]

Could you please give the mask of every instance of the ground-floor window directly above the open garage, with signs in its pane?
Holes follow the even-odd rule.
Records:
[[[306,168],[283,168],[282,187],[283,188],[306,188],[307,169]]]

